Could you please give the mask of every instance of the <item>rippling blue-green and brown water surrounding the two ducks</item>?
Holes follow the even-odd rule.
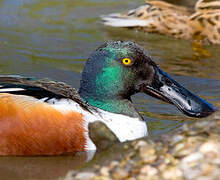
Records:
[[[210,57],[198,57],[191,42],[104,27],[100,22],[102,14],[140,4],[142,0],[0,0],[0,74],[49,77],[78,88],[86,58],[97,46],[106,40],[132,40],[146,48],[182,85],[219,107],[220,46],[204,46],[202,51],[208,51]],[[194,120],[154,98],[138,94],[133,99],[148,122],[151,137]],[[116,151],[120,154],[120,146],[97,154],[88,164],[83,153],[1,157],[0,179],[57,179],[68,170],[90,166]]]

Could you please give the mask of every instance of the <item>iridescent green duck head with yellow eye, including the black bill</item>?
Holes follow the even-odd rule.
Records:
[[[205,117],[215,111],[133,42],[107,42],[90,55],[79,89],[84,101],[108,112],[139,117],[131,102],[131,96],[139,92],[173,104],[187,116]]]

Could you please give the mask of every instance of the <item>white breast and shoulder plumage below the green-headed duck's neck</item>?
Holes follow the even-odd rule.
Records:
[[[96,149],[96,146],[88,135],[88,124],[95,121],[103,122],[115,134],[120,142],[131,141],[148,135],[146,122],[140,120],[139,118],[115,114],[101,109],[97,109],[97,111],[92,111],[92,113],[90,113],[82,109],[78,103],[70,99],[57,100],[54,98],[49,100],[48,103],[63,113],[76,111],[83,115],[86,121],[86,150]]]

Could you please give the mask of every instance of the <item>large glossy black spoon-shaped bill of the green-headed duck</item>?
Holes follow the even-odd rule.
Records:
[[[142,87],[146,94],[175,105],[191,117],[206,117],[216,111],[212,104],[191,93],[160,68],[154,67],[154,71],[151,85]]]

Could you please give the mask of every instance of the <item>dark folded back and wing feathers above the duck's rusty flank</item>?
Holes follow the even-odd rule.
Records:
[[[77,90],[71,86],[49,79],[27,78],[13,75],[0,75],[0,93],[27,95],[37,99],[68,98],[88,110],[88,105],[79,97]]]

